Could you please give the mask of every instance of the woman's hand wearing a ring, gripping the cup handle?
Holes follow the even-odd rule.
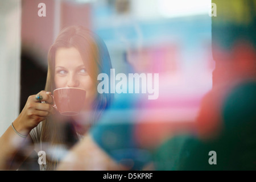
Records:
[[[27,135],[41,121],[55,113],[51,92],[42,90],[39,94],[43,97],[42,100],[36,100],[37,95],[29,96],[22,112],[13,123],[15,129],[21,134]],[[45,103],[42,103],[43,101]]]

